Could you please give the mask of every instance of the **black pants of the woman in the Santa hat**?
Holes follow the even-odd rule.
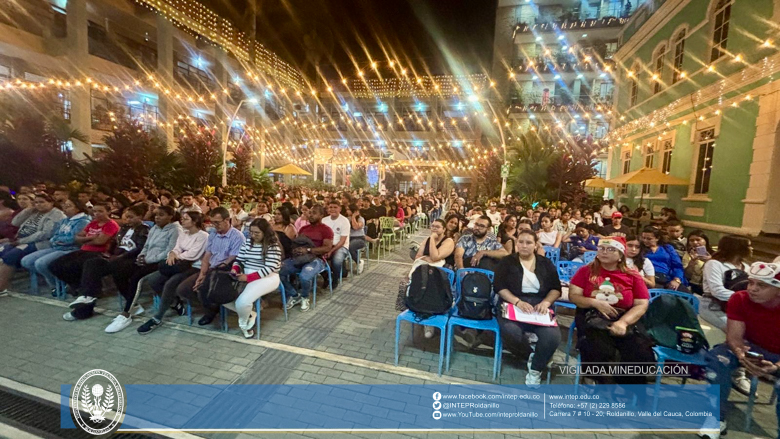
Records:
[[[624,337],[616,337],[608,330],[588,328],[585,325],[584,313],[577,313],[576,322],[577,349],[580,351],[582,363],[619,361],[624,366],[638,365],[637,363],[655,364],[652,341],[637,329],[629,328]],[[606,377],[595,378],[603,383]],[[618,384],[647,384],[646,376],[615,376],[614,379]]]

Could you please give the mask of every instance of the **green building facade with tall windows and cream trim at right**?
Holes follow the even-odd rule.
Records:
[[[687,186],[622,186],[716,233],[780,233],[778,0],[654,0],[620,34],[609,174],[643,166]]]

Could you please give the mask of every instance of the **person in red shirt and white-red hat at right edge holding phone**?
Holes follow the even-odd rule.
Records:
[[[732,372],[744,366],[754,376],[780,386],[780,265],[755,262],[747,290],[734,293],[726,308],[726,343],[707,353],[707,380],[720,385],[720,430],[727,429]],[[780,389],[778,389],[780,390]],[[780,400],[775,408],[780,420]],[[718,435],[709,435],[711,438]],[[777,431],[780,437],[780,428]]]

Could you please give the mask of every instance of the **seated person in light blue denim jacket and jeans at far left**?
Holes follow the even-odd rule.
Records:
[[[49,271],[49,264],[55,259],[79,249],[76,234],[84,230],[90,221],[84,205],[77,200],[68,199],[61,205],[67,218],[60,220],[54,227],[54,234],[49,239],[49,248],[39,249],[22,258],[21,262],[22,267],[30,273],[43,276],[52,291],[54,291],[57,279]]]

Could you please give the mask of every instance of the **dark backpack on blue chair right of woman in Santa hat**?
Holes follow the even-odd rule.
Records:
[[[650,302],[647,312],[642,317],[647,333],[659,346],[675,349],[678,345],[678,328],[696,336],[701,347],[709,349],[709,343],[704,338],[699,319],[691,304],[672,294],[661,294]]]

